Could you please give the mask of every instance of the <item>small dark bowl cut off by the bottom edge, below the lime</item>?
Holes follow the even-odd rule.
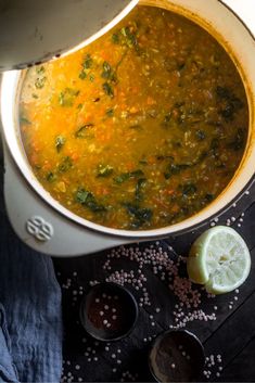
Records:
[[[195,382],[202,378],[204,363],[202,343],[187,330],[161,333],[149,354],[149,367],[157,382]]]

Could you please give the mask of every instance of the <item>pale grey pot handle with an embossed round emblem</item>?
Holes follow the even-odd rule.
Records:
[[[133,242],[95,232],[66,219],[47,205],[18,171],[9,149],[4,150],[4,202],[17,237],[37,252],[69,257],[95,253]]]

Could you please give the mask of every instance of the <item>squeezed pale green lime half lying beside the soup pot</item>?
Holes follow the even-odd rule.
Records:
[[[208,293],[228,293],[247,278],[250,251],[234,229],[216,226],[206,230],[191,246],[187,270],[190,280],[205,284]]]

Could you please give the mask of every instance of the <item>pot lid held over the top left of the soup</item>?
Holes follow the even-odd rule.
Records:
[[[117,24],[138,0],[0,0],[0,72],[77,50]]]

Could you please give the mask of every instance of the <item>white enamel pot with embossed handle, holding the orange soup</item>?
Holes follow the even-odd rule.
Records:
[[[59,256],[93,253],[115,245],[167,238],[203,225],[239,199],[255,170],[255,41],[252,31],[218,0],[142,0],[193,20],[207,29],[228,51],[242,77],[250,108],[246,149],[234,177],[206,208],[194,216],[162,229],[125,231],[106,228],[67,210],[41,187],[26,159],[20,137],[18,93],[22,72],[3,74],[1,117],[5,146],[5,203],[12,226],[31,247]],[[212,175],[213,176],[213,175]]]

